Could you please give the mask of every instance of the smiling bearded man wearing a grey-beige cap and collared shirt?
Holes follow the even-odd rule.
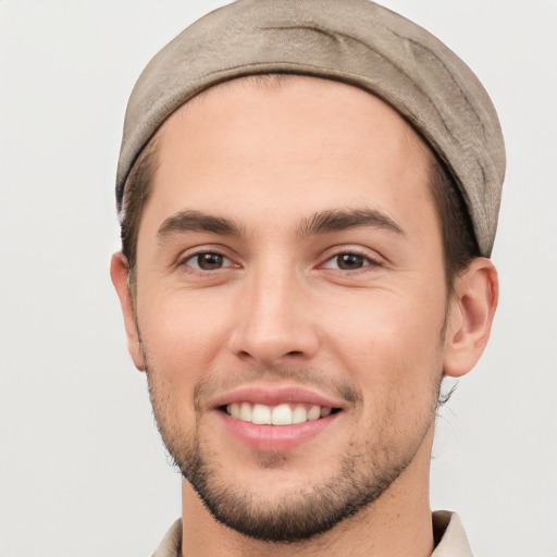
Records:
[[[184,478],[154,555],[470,555],[429,462],[504,169],[476,77],[368,0],[239,0],[149,63],[111,274]]]

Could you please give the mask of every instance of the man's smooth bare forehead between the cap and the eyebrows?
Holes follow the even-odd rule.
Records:
[[[301,208],[386,207],[405,190],[428,193],[414,183],[428,183],[432,159],[413,128],[379,98],[290,75],[208,89],[164,123],[157,147],[148,205],[161,218],[187,206],[208,211],[223,199],[243,218],[250,209],[277,213],[278,205],[293,216],[304,216]]]

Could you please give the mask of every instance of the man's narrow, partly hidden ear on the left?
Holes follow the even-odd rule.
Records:
[[[122,313],[124,314],[124,325],[126,327],[127,335],[127,350],[134,360],[135,367],[139,371],[145,371],[144,352],[141,350],[141,341],[139,338],[139,332],[137,330],[137,323],[135,319],[134,300],[129,290],[129,265],[124,255],[119,251],[112,256],[110,262],[110,277],[112,284],[116,289],[117,297],[120,298],[120,305],[122,306]]]

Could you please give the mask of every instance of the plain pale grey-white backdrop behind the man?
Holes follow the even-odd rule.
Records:
[[[0,555],[149,555],[180,476],[127,356],[109,259],[127,95],[222,1],[0,1]],[[432,505],[478,557],[557,555],[557,1],[385,0],[479,74],[508,173],[488,349],[443,412]]]

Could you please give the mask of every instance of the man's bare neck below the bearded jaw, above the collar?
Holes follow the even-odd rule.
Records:
[[[423,453],[423,454],[421,454]],[[429,502],[431,444],[387,491],[329,532],[294,544],[260,542],[216,522],[187,481],[183,481],[183,556],[198,557],[429,557],[433,532]]]

